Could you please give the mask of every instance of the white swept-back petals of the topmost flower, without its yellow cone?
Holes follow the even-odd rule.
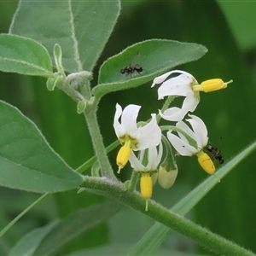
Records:
[[[166,80],[172,73],[180,73],[180,75]],[[163,99],[165,96],[185,97],[182,108],[168,108],[164,113],[160,111],[160,116],[163,119],[180,121],[186,113],[189,111],[193,112],[200,101],[199,93],[192,89],[192,86],[198,83],[196,79],[187,72],[173,70],[155,78],[151,87],[153,87],[154,84],[161,84],[158,89],[158,99]]]

